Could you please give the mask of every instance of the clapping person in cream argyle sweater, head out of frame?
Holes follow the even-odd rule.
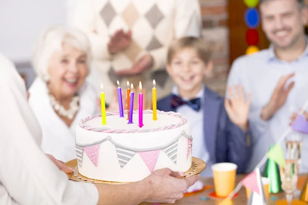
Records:
[[[172,89],[167,47],[175,38],[200,37],[202,22],[198,0],[79,0],[71,25],[89,36],[94,59],[89,79],[99,92],[104,81],[109,104],[117,80],[125,88],[127,80],[134,88],[141,81],[150,97],[155,79],[158,99],[167,95]]]

